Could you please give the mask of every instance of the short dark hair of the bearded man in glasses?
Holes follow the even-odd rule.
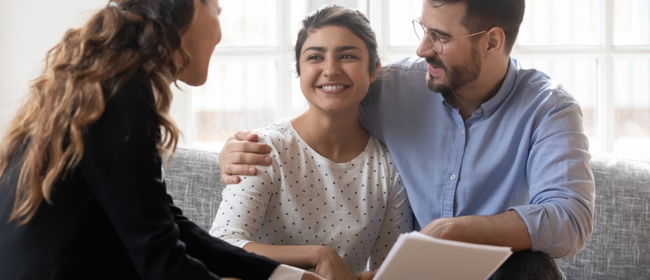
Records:
[[[510,54],[524,19],[525,0],[429,0],[429,4],[434,8],[456,2],[467,4],[465,18],[461,22],[470,33],[486,31],[492,27],[503,29],[506,33],[504,50]],[[477,36],[472,39],[478,38]]]

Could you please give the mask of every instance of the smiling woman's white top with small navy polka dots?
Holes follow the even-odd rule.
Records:
[[[288,120],[253,133],[272,147],[273,162],[224,188],[211,235],[242,248],[329,246],[361,274],[379,268],[400,233],[413,231],[406,188],[376,138],[338,164],[307,146]]]

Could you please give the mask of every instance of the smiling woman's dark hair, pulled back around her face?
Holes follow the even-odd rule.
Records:
[[[294,49],[296,51],[296,73],[298,73],[298,76],[300,76],[300,51],[302,45],[305,44],[305,40],[307,40],[307,36],[318,29],[332,25],[350,29],[365,43],[370,58],[369,73],[375,75],[379,67],[380,57],[377,38],[374,31],[372,31],[372,27],[370,27],[370,21],[358,10],[340,4],[328,4],[321,6],[318,10],[302,19],[302,28],[298,31]]]

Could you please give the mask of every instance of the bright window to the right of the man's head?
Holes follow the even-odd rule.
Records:
[[[526,0],[513,57],[580,103],[591,151],[650,156],[650,1]]]

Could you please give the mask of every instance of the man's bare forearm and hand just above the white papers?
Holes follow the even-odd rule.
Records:
[[[515,252],[532,246],[528,227],[517,211],[492,216],[439,218],[420,232],[447,240],[512,247]]]

